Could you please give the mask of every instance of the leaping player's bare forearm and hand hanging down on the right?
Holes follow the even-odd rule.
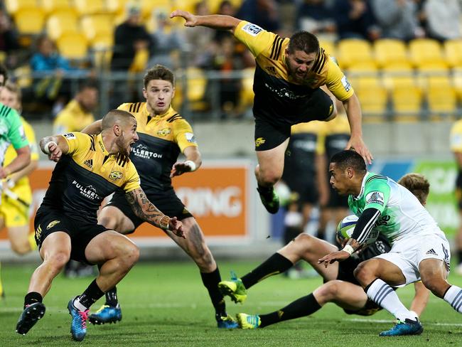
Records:
[[[348,141],[345,149],[355,149],[355,151],[357,151],[362,156],[362,158],[364,158],[367,164],[372,164],[374,157],[362,140],[361,105],[356,94],[353,94],[351,97],[345,100],[343,102],[343,106],[345,107],[351,129],[350,141]]]

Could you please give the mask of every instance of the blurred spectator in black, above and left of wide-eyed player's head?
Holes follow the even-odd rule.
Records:
[[[119,24],[114,32],[111,70],[129,70],[135,62],[136,53],[146,53],[150,44],[151,37],[141,23],[141,9],[136,4],[128,4],[127,20]],[[147,63],[148,57],[149,54],[144,63]],[[145,66],[140,68],[144,70]]]

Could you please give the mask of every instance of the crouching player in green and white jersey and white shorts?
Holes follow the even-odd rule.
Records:
[[[331,185],[358,215],[353,235],[343,250],[318,262],[326,267],[348,259],[365,245],[373,230],[387,236],[392,250],[362,262],[355,277],[367,297],[397,318],[397,324],[380,336],[416,335],[423,331],[419,319],[399,301],[392,287],[421,279],[436,297],[462,313],[462,289],[449,284],[449,244],[435,220],[406,188],[391,178],[367,171],[364,159],[355,151],[340,151],[329,165]],[[390,287],[392,286],[392,287]]]

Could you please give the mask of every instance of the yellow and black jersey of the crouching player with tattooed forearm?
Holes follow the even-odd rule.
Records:
[[[102,200],[122,188],[140,188],[135,166],[127,156],[109,154],[102,136],[71,132],[62,135],[69,145],[53,170],[43,207],[62,210],[78,220],[97,221]]]

